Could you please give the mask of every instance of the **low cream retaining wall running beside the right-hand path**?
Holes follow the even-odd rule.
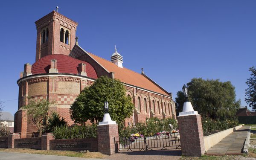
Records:
[[[205,151],[208,151],[209,148],[211,148],[213,145],[217,144],[218,142],[220,142],[223,138],[227,137],[229,134],[231,134],[233,131],[238,130],[239,128],[241,128],[243,125],[238,125],[236,127],[233,128],[229,128],[226,129],[224,131],[220,131],[218,133],[215,134],[211,134],[209,136],[205,136],[204,137],[204,148]]]

